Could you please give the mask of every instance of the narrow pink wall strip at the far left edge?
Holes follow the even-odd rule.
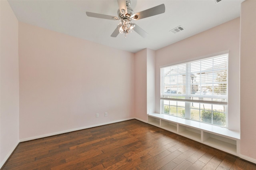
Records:
[[[19,142],[18,20],[0,0],[0,168]]]

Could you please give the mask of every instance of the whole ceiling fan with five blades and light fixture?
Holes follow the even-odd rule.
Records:
[[[120,23],[117,25],[114,32],[111,34],[111,37],[117,37],[118,34],[120,33],[120,34],[124,34],[124,37],[126,38],[126,35],[134,30],[140,36],[145,38],[148,35],[148,33],[146,33],[142,28],[132,23],[131,21],[140,20],[142,18],[147,18],[150,16],[162,14],[165,12],[164,4],[155,6],[153,8],[149,8],[141,12],[134,13],[132,8],[130,8],[130,4],[131,4],[130,0],[117,0],[117,2],[119,6],[119,9],[117,11],[118,17],[98,14],[93,12],[86,12],[86,15],[89,17],[120,21]]]

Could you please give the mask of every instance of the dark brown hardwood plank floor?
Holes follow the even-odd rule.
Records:
[[[256,165],[130,120],[21,142],[4,170],[256,170]]]

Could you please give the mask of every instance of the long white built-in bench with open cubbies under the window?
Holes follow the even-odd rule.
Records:
[[[224,152],[239,154],[240,133],[228,128],[158,113],[150,113],[148,123]]]

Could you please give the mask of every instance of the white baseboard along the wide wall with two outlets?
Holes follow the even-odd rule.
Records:
[[[136,118],[122,119],[122,120],[118,120],[118,121],[100,123],[100,124],[90,125],[90,126],[86,126],[86,127],[73,128],[73,129],[63,130],[63,131],[59,131],[59,132],[53,132],[53,133],[48,133],[48,134],[42,134],[42,135],[38,135],[38,136],[32,136],[32,137],[29,137],[29,138],[20,139],[20,142],[25,142],[25,141],[28,141],[28,140],[34,140],[34,139],[44,138],[44,137],[48,137],[48,136],[54,136],[54,135],[56,135],[56,134],[62,134],[62,133],[67,133],[67,132],[73,132],[73,131],[76,131],[76,130],[82,130],[82,129],[86,129],[86,128],[92,128],[92,127],[98,127],[98,126],[102,126],[102,125],[108,125],[108,124],[111,124],[111,123],[117,123],[117,122],[122,122],[122,121],[128,121],[128,120],[131,120],[131,119],[136,119]]]

